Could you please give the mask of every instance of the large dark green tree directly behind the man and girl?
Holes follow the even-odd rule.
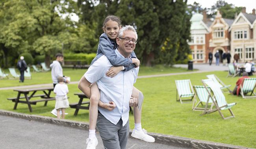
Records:
[[[187,22],[184,19],[189,20],[189,17],[186,17],[186,1],[96,0],[95,2],[98,2],[98,5],[92,4],[91,0],[78,0],[83,11],[82,18],[87,18],[83,20],[84,22],[103,22],[109,14],[119,16],[123,24],[133,25],[137,30],[138,43],[135,53],[141,62],[148,66],[158,63],[173,64],[177,54],[176,48],[180,47],[181,33],[184,28],[189,29],[182,26],[185,25],[183,22]],[[89,11],[86,11],[86,8]],[[99,24],[98,28],[101,27],[102,25]],[[184,32],[189,33],[189,30]],[[185,37],[185,40],[188,38]],[[161,51],[164,43],[168,48]],[[187,47],[184,46],[184,48]],[[187,51],[189,49],[184,50],[184,52]],[[167,56],[172,56],[173,59]]]

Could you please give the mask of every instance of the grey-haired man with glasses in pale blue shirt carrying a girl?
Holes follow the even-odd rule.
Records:
[[[128,25],[120,29],[116,38],[119,57],[130,58],[137,43],[134,27]],[[105,149],[125,149],[129,135],[129,106],[137,107],[137,98],[130,98],[133,84],[137,79],[139,68],[121,71],[115,77],[107,77],[106,72],[113,65],[103,55],[96,60],[80,79],[79,89],[87,97],[91,96],[90,85],[97,82],[100,89],[100,100],[103,103],[114,102],[116,107],[109,111],[98,107],[97,128]]]

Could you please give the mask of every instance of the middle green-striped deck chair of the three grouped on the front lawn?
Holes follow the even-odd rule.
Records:
[[[213,107],[213,101],[211,100],[208,91],[210,91],[210,88],[208,87],[208,91],[206,90],[206,88],[202,85],[195,85],[193,86],[194,90],[195,90],[195,99],[193,102],[193,107],[192,110],[193,111],[207,111],[209,110],[208,108],[208,104],[211,104],[210,110]],[[198,98],[198,102],[197,102],[197,98]],[[197,102],[197,104],[196,104]],[[203,103],[206,103],[206,105],[204,107],[198,107],[200,104],[203,105]],[[195,105],[196,104],[196,105]]]

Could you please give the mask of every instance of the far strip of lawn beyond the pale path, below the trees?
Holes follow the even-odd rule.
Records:
[[[70,76],[71,81],[79,81],[86,71],[87,69],[64,68],[63,75]],[[139,76],[158,75],[158,74],[165,74],[165,73],[181,73],[181,72],[188,72],[188,71],[189,70],[184,68],[164,67],[162,65],[156,65],[154,67],[140,66]],[[19,73],[17,69],[16,69],[16,72]],[[4,69],[4,73],[9,73],[8,69]],[[9,76],[10,75],[11,74],[9,74]],[[24,83],[19,83],[19,79],[9,80],[7,78],[4,78],[0,80],[0,87],[33,85],[33,84],[49,84],[49,83],[52,83],[51,71],[40,72],[40,73],[32,72],[31,80],[25,78]]]

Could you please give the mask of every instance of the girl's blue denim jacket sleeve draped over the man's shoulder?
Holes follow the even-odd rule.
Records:
[[[111,42],[108,41],[108,37],[101,36],[99,48],[102,53],[107,56],[108,60],[113,66],[128,66],[132,64],[132,58],[122,58],[118,57],[115,53],[113,47],[111,47]]]

